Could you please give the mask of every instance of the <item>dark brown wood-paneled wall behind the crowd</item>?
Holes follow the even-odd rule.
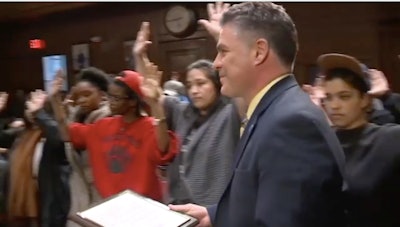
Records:
[[[150,48],[150,58],[164,70],[165,79],[171,71],[184,72],[187,64],[197,58],[213,59],[216,54],[215,42],[203,28],[199,27],[197,32],[184,39],[174,38],[167,33],[163,25],[163,16],[172,4],[99,3],[96,6],[24,23],[1,25],[0,90],[32,90],[43,87],[41,57],[50,54],[67,55],[69,80],[73,83],[75,72],[72,71],[71,45],[90,43],[90,37],[93,36],[101,36],[102,42],[90,43],[91,65],[109,73],[117,73],[126,68],[123,42],[134,39],[141,21],[145,20],[150,21],[152,25],[153,44]],[[199,17],[206,17],[206,3],[180,4],[195,9]],[[341,52],[359,58],[370,67],[383,69],[392,82],[392,87],[400,91],[400,61],[397,58],[400,49],[392,48],[393,45],[399,47],[400,32],[396,32],[393,28],[396,26],[393,25],[383,29],[380,21],[389,16],[382,12],[381,5],[283,5],[295,21],[299,32],[300,52],[295,72],[300,83],[310,80],[313,64],[320,54]],[[385,6],[385,9],[391,10],[390,17],[398,12],[390,6]],[[29,49],[28,40],[32,38],[46,40],[46,49]]]

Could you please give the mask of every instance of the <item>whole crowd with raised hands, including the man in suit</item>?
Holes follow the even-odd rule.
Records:
[[[135,71],[82,69],[65,95],[60,70],[49,93],[25,97],[22,116],[2,119],[6,226],[79,226],[69,215],[126,189],[200,227],[400,226],[400,94],[383,72],[324,53],[301,86],[282,6],[208,12],[199,23],[218,54],[188,65],[184,81],[161,85],[143,22]],[[7,100],[0,93],[0,111]]]

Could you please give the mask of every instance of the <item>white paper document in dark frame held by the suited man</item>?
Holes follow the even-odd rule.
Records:
[[[189,216],[131,191],[122,192],[77,215],[104,227],[178,227],[191,220]]]

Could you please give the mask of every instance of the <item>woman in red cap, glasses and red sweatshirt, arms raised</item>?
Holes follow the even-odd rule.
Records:
[[[62,79],[54,83],[54,93]],[[123,71],[109,86],[108,97],[113,117],[93,124],[65,123],[60,102],[56,111],[60,129],[77,149],[86,149],[92,166],[94,184],[105,198],[131,189],[152,199],[162,200],[156,174],[158,165],[172,161],[178,142],[168,131],[165,115],[157,105],[159,92],[134,71]],[[146,101],[144,103],[143,101]],[[149,108],[154,117],[143,114]]]

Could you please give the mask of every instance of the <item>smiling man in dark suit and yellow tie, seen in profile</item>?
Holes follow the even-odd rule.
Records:
[[[298,44],[291,18],[273,3],[246,2],[227,9],[221,26],[214,61],[221,91],[244,99],[249,120],[218,204],[170,208],[199,226],[344,226],[343,151],[292,75]]]

